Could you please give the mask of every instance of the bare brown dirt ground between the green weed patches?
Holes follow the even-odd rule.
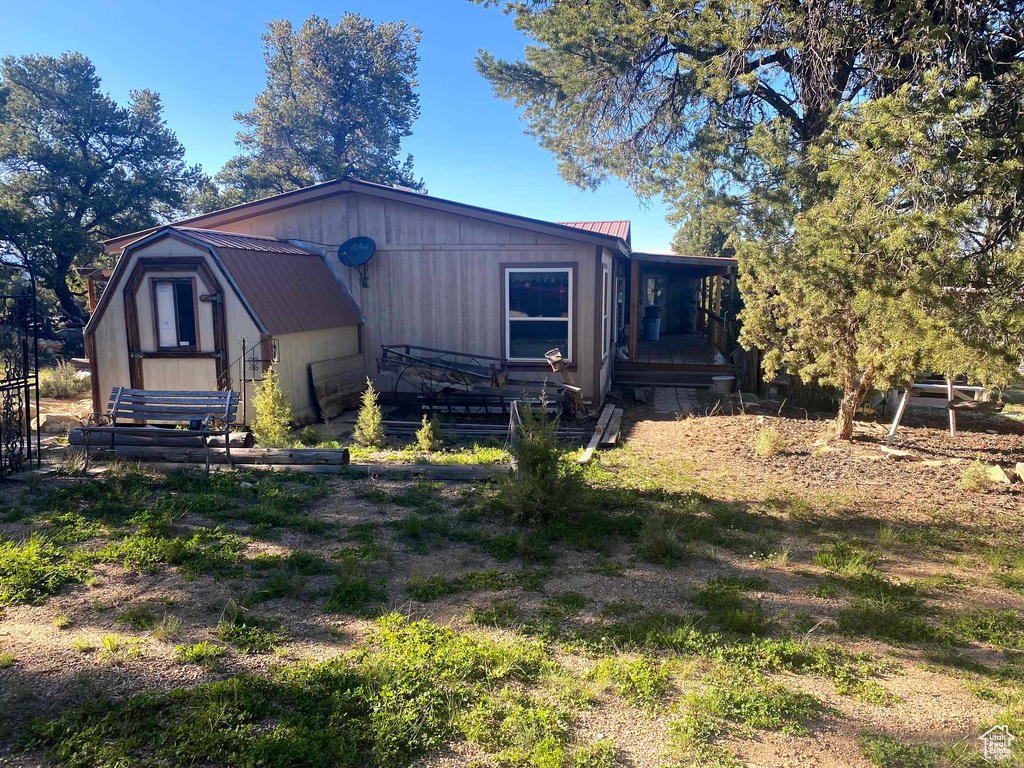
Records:
[[[639,556],[637,544],[628,538],[610,540],[604,551],[563,539],[551,544],[552,564],[540,586],[467,589],[419,601],[410,595],[411,579],[451,581],[468,572],[508,571],[519,558],[499,559],[486,548],[451,534],[403,532],[400,521],[427,513],[411,512],[394,502],[415,485],[401,480],[331,479],[329,493],[302,513],[325,523],[328,527],[323,530],[289,527],[256,535],[243,522],[229,523],[228,528],[246,537],[244,557],[249,562],[261,555],[288,556],[296,551],[336,560],[351,546],[353,531],[372,530],[380,554],[370,574],[383,583],[382,609],[494,637],[525,629],[518,629],[517,623],[505,628],[471,624],[467,620],[471,609],[496,601],[511,603],[525,626],[544,614],[552,596],[583,595],[585,604],[561,625],[569,632],[599,625],[622,605],[649,613],[701,616],[694,598],[709,582],[761,577],[770,586],[752,589],[746,597],[783,628],[776,632],[837,643],[889,667],[871,678],[884,689],[883,702],[841,694],[828,680],[813,675],[773,675],[773,680],[817,697],[827,709],[802,735],[742,725],[729,728],[715,743],[751,766],[910,765],[872,763],[858,739],[872,733],[904,744],[976,744],[982,727],[1006,711],[1007,700],[1018,701],[1013,706],[1019,707],[1020,699],[1013,698],[1019,696],[1015,683],[989,673],[1013,662],[1014,653],[1024,648],[973,638],[956,649],[955,664],[943,664],[939,658],[943,649],[928,643],[896,643],[870,633],[841,632],[837,617],[851,598],[821,588],[829,577],[816,556],[823,545],[849,537],[877,557],[877,572],[884,579],[949,585],[922,588],[928,606],[923,615],[933,624],[945,621],[937,616],[978,610],[1014,611],[1021,621],[1024,593],[997,581],[996,566],[986,553],[1002,546],[1000,542],[1006,544],[1008,537],[1015,552],[1024,547],[1024,482],[980,493],[962,489],[959,483],[965,468],[976,459],[1009,467],[1024,462],[1024,423],[962,416],[959,434],[950,437],[939,418],[943,414],[911,412],[895,443],[910,456],[894,460],[880,451],[883,420],[859,422],[852,443],[835,443],[824,439],[822,420],[793,411],[779,415],[775,407],[686,418],[664,418],[640,404],[625,408],[625,444],[599,456],[591,481],[607,487],[696,492],[716,502],[733,503],[771,529],[762,537],[763,546],[758,544],[757,537],[762,536],[758,529],[744,530],[737,532],[744,546],[732,547],[727,536],[698,542],[689,556],[665,565]],[[785,447],[762,457],[753,445],[758,433],[769,427],[781,433]],[[5,505],[17,505],[27,490],[3,493]],[[457,530],[465,519],[460,510],[465,509],[466,499],[482,493],[472,485],[449,484],[433,492],[443,510],[429,514],[444,517]],[[199,529],[213,527],[217,520],[187,513],[178,524]],[[0,539],[17,541],[28,526],[24,520],[0,522]],[[494,536],[510,530],[489,519],[477,528]],[[891,536],[884,538],[879,532],[883,529]],[[924,531],[925,543],[915,537],[918,531]],[[939,535],[949,541],[928,538]],[[218,669],[205,669],[175,663],[174,645],[217,642],[216,627],[225,606],[260,589],[262,575],[251,569],[230,578],[186,575],[172,565],[146,573],[116,562],[98,563],[91,572],[86,583],[66,586],[38,604],[3,608],[0,653],[8,654],[11,663],[0,667],[4,723],[0,765],[54,764],[45,752],[18,746],[18,734],[33,717],[52,718],[99,697],[121,700],[145,690],[168,691],[243,672],[266,674],[274,665],[299,659],[331,658],[359,645],[373,622],[358,612],[325,612],[318,595],[330,589],[333,577],[311,574],[294,594],[259,603],[261,618],[278,625],[287,638],[275,652],[231,652]],[[118,617],[133,606],[180,620],[174,639],[158,639],[150,630],[119,623]],[[120,638],[124,647],[104,654],[103,638],[110,636]],[[550,642],[558,663],[581,679],[601,657],[572,643]],[[83,650],[86,646],[91,649]],[[672,655],[658,649],[651,652],[658,657]],[[607,688],[597,689],[593,705],[578,713],[578,737],[613,741],[616,765],[695,764],[678,756],[670,726],[684,711],[687,692],[699,686],[710,668],[703,659],[672,663],[676,666],[670,691],[653,709],[634,706]],[[1018,735],[1024,739],[1024,733]],[[441,753],[420,758],[416,765],[490,764],[487,761],[477,745],[456,741]]]

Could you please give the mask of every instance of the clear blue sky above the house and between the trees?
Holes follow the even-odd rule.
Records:
[[[79,50],[117,100],[134,88],[159,92],[188,161],[215,172],[236,153],[234,112],[264,85],[264,23],[298,25],[311,13],[335,20],[345,10],[404,18],[423,33],[422,114],[407,150],[431,194],[542,219],[628,218],[634,248],[669,249],[660,201],[641,204],[618,182],[596,193],[569,186],[552,156],[523,134],[512,104],[494,97],[473,67],[477,49],[518,57],[526,42],[497,8],[467,0],[8,0],[0,3],[0,54]]]

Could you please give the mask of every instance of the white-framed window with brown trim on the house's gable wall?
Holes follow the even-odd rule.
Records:
[[[572,348],[572,270],[568,267],[509,268],[505,272],[505,356],[543,360],[556,347],[565,359]]]

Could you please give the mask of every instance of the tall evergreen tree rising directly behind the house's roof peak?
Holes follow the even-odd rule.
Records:
[[[401,141],[420,115],[419,31],[346,13],[310,16],[296,31],[271,22],[263,35],[266,88],[234,119],[242,154],[201,184],[193,204],[214,210],[342,176],[420,189]]]

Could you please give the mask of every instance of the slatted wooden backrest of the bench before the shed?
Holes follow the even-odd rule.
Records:
[[[232,424],[239,408],[239,393],[230,390],[197,392],[161,391],[114,387],[106,414],[112,424],[128,421],[187,424],[207,417]]]

